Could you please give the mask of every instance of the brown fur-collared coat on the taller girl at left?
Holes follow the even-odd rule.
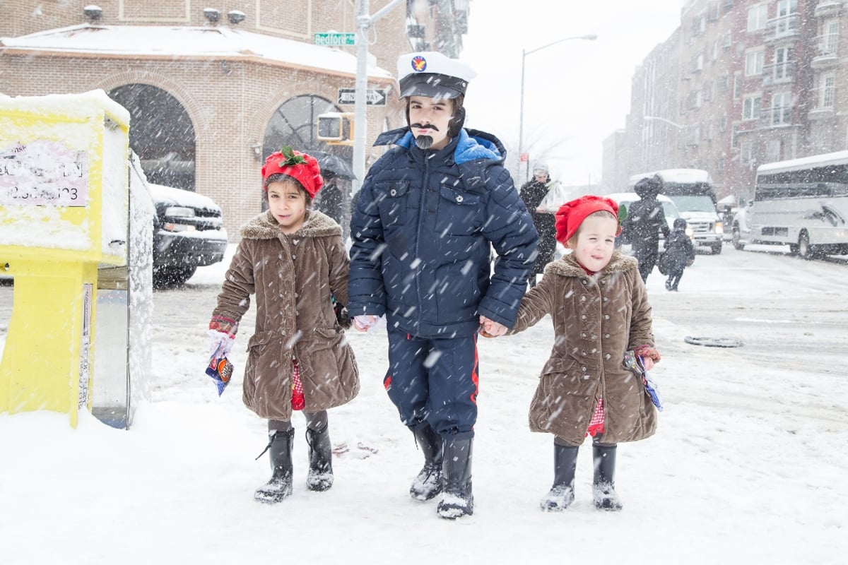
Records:
[[[292,359],[300,368],[306,412],[349,402],[360,390],[354,353],[330,296],[348,302],[349,258],[342,229],[310,210],[286,235],[270,212],[242,226],[213,315],[236,321],[256,294],[256,329],[248,341],[244,404],[262,418],[292,418]]]

